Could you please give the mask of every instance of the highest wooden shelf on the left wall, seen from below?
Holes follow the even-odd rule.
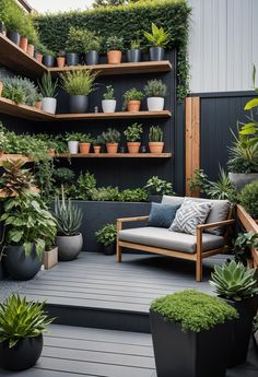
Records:
[[[40,78],[48,69],[8,37],[0,34],[0,63],[31,78]]]

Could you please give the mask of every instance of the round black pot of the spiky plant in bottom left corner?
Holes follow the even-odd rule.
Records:
[[[8,370],[24,370],[36,364],[43,351],[43,335],[25,338],[9,349],[8,341],[0,343],[0,366]]]

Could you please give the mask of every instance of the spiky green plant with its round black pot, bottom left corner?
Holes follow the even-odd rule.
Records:
[[[43,351],[43,333],[52,320],[44,303],[13,294],[0,304],[0,366],[8,370],[34,366]]]

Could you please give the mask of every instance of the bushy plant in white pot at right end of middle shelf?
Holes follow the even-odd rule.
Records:
[[[162,80],[150,80],[144,86],[146,106],[149,111],[162,111],[164,109],[167,86]]]

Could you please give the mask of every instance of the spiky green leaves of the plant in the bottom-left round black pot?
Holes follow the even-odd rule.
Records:
[[[44,309],[45,303],[27,302],[13,294],[0,304],[0,342],[8,341],[13,347],[20,340],[35,338],[46,332],[52,322]]]

